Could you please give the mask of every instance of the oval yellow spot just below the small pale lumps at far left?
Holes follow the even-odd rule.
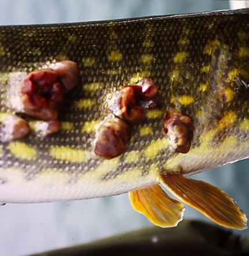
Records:
[[[23,160],[31,160],[37,156],[34,147],[31,147],[24,142],[10,142],[8,149],[13,156]]]

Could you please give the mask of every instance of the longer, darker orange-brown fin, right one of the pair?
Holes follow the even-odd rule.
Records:
[[[161,183],[178,199],[219,225],[239,230],[247,228],[246,215],[221,189],[203,181],[185,178],[180,173],[162,176]]]

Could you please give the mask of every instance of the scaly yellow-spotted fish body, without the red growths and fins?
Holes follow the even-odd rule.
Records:
[[[80,75],[79,85],[65,98],[61,131],[46,138],[31,131],[1,143],[1,202],[89,199],[158,188],[158,183],[178,195],[174,177],[181,175],[177,181],[188,186],[192,183],[185,176],[249,157],[249,9],[2,26],[0,119],[16,114],[10,100],[16,84],[61,60],[77,63]],[[122,86],[145,77],[158,86],[158,104],[133,126],[125,152],[111,160],[96,156],[96,130],[113,116],[112,98]],[[192,120],[186,154],[171,150],[163,131],[171,109]],[[36,120],[29,122],[32,127]],[[180,219],[183,208],[173,204]]]

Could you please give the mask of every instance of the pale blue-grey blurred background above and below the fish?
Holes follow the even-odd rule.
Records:
[[[65,23],[243,8],[246,1],[1,0],[0,25]],[[225,150],[225,149],[224,149]],[[225,190],[249,216],[249,161],[192,176]],[[185,219],[203,219],[186,207]],[[0,207],[0,255],[16,256],[73,246],[152,225],[127,194],[105,199]],[[248,230],[237,232],[249,235]]]

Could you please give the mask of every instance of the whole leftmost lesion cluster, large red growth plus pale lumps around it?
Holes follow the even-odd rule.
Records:
[[[29,74],[16,72],[13,79],[11,74],[9,86],[6,86],[6,92],[2,95],[6,96],[6,106],[10,106],[13,113],[1,122],[2,142],[24,138],[31,129],[41,137],[60,131],[58,116],[65,93],[79,82],[78,65],[64,60],[50,63],[47,68]],[[20,114],[22,117],[18,116]],[[39,121],[35,122],[34,118]]]

